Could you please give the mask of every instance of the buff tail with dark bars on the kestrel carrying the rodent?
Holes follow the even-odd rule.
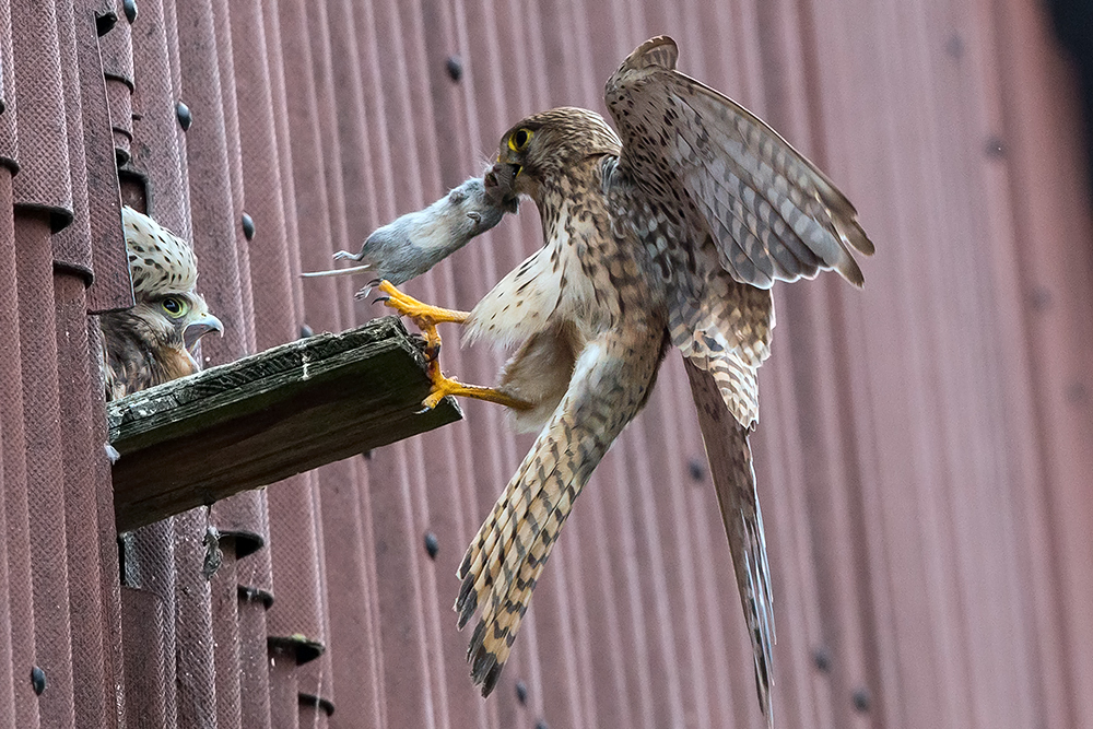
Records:
[[[639,334],[639,336],[635,336]],[[493,691],[573,502],[637,411],[660,362],[662,329],[590,343],[562,402],[536,439],[456,573],[462,627],[481,609],[467,650],[471,679]]]

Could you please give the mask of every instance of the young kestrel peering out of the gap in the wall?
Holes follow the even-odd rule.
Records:
[[[99,317],[107,400],[198,372],[198,340],[224,331],[195,291],[190,245],[128,205],[121,222],[137,303]]]

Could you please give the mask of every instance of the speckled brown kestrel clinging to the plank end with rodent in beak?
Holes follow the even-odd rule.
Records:
[[[748,435],[756,369],[769,353],[771,285],[835,269],[855,285],[851,249],[873,252],[847,199],[763,121],[675,71],[668,37],[642,44],[608,80],[616,134],[597,114],[557,108],[502,137],[486,176],[497,200],[531,198],[545,245],[469,314],[432,309],[388,284],[389,304],[435,341],[520,348],[486,399],[541,428],[459,567],[459,625],[481,611],[471,675],[489,694],[574,499],[649,397],[669,345],[682,352],[773,722],[774,615]],[[432,402],[483,397],[436,369]]]

